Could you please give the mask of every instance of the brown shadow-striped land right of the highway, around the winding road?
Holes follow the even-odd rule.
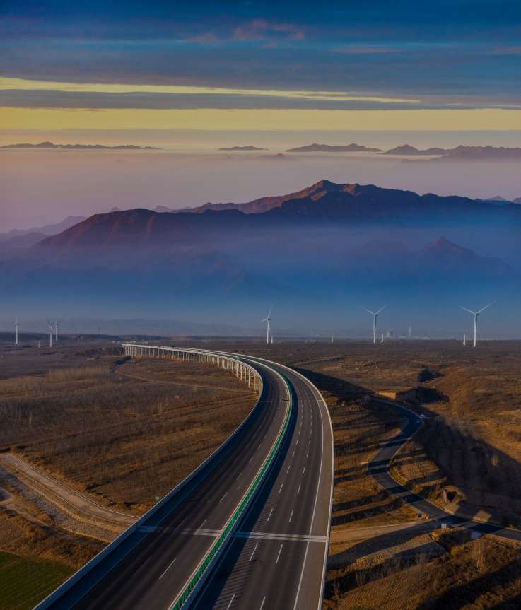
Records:
[[[364,469],[399,426],[392,409],[375,404],[371,391],[398,394],[429,416],[395,460],[400,480],[440,503],[446,489],[443,504],[453,512],[516,522],[521,516],[519,342],[490,341],[476,350],[455,341],[228,344],[233,348],[299,368],[329,394],[335,487],[324,608],[521,607],[519,544],[493,536],[469,540],[464,532],[438,541],[437,533],[426,533],[425,522],[382,493]],[[383,527],[399,522],[410,525],[400,532]],[[365,538],[356,531],[364,527],[373,528]]]

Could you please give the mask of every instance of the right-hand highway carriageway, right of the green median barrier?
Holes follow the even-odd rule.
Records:
[[[276,468],[193,608],[322,608],[329,540],[332,429],[320,393],[278,367],[295,391],[295,425]]]

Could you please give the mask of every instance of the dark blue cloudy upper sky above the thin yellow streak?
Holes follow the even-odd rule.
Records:
[[[4,0],[0,10],[2,76],[520,103],[519,1]]]

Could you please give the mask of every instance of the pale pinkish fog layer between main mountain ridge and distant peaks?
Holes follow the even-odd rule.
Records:
[[[334,141],[338,138],[329,138]],[[408,141],[414,143],[412,138]],[[363,143],[373,144],[368,139]],[[0,232],[53,223],[69,215],[90,216],[115,206],[182,208],[206,201],[250,201],[294,192],[322,179],[418,193],[521,197],[519,163],[406,162],[352,153],[272,154],[0,151]]]

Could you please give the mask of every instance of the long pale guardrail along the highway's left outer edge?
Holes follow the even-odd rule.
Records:
[[[125,344],[123,344],[123,347],[124,347],[124,345]],[[152,347],[152,346],[139,346],[136,344],[127,344],[127,345],[131,345],[134,348],[135,347],[142,347],[142,348]],[[158,349],[157,346],[154,346],[154,348],[156,350]],[[173,348],[159,348],[159,349],[172,350]],[[184,350],[183,348],[175,348],[175,351],[184,352],[184,353],[196,353],[195,350],[189,350],[189,349]],[[208,351],[208,352],[198,351],[198,353],[203,354],[203,355],[207,354],[209,356],[216,355],[215,352],[212,353],[211,351]],[[225,358],[228,358],[228,360],[236,360],[238,357],[234,358],[233,356],[226,356]],[[250,413],[247,415],[247,417],[242,421],[242,423],[240,423],[240,426],[238,426],[238,428],[221,445],[219,445],[219,447],[217,447],[217,449],[212,454],[210,454],[209,457],[207,457],[204,460],[204,462],[201,462],[201,464],[199,464],[199,466],[194,471],[192,471],[187,477],[185,477],[185,479],[183,479],[182,481],[177,483],[177,485],[171,491],[169,491],[163,498],[161,498],[161,500],[159,500],[159,502],[157,504],[153,505],[153,507],[151,509],[149,509],[144,515],[141,515],[139,520],[137,520],[134,524],[132,524],[127,529],[125,529],[125,531],[122,532],[122,534],[119,534],[119,536],[117,536],[117,538],[115,540],[113,540],[110,544],[105,546],[105,549],[103,549],[97,555],[95,555],[92,559],[90,559],[90,561],[88,561],[85,565],[83,565],[82,568],[80,568],[77,572],[75,572],[73,575],[71,575],[65,582],[62,582],[62,585],[60,585],[56,590],[54,590],[52,593],[50,593],[45,599],[42,600],[42,602],[37,604],[35,606],[34,610],[47,610],[50,606],[52,606],[52,604],[58,602],[59,598],[62,597],[62,595],[64,595],[67,591],[69,591],[71,589],[71,587],[74,587],[74,585],[76,585],[76,583],[79,580],[81,580],[81,578],[83,578],[85,575],[87,575],[91,570],[93,570],[93,568],[95,568],[96,565],[98,565],[101,561],[103,561],[103,559],[105,559],[105,557],[110,555],[110,553],[112,553],[113,551],[115,551],[115,549],[117,549],[119,546],[121,546],[124,543],[124,541],[131,534],[134,534],[137,531],[137,529],[139,527],[141,527],[142,525],[144,525],[145,522],[152,515],[154,515],[158,510],[160,510],[160,508],[163,508],[163,506],[166,503],[170,502],[170,500],[172,500],[172,498],[174,498],[175,495],[177,495],[177,493],[180,493],[180,491],[182,491],[182,489],[185,488],[185,486],[187,486],[187,484],[190,481],[192,481],[192,479],[194,479],[194,476],[199,474],[203,469],[209,467],[209,464],[213,460],[218,458],[219,454],[221,454],[221,452],[223,452],[223,450],[230,444],[230,442],[233,440],[233,438],[235,438],[235,436],[238,435],[240,430],[242,430],[242,428],[246,425],[247,421],[250,420],[253,413],[257,410],[257,407],[259,406],[260,397],[262,396],[262,388],[263,388],[262,377],[261,377],[261,375],[259,375],[259,373],[257,373],[257,370],[255,370],[250,365],[247,365],[246,363],[241,363],[241,364],[247,366],[248,368],[250,368],[253,371],[253,373],[255,375],[254,378],[257,380],[257,390],[258,390],[259,394],[258,394],[257,402],[255,403],[253,409],[250,411]]]

